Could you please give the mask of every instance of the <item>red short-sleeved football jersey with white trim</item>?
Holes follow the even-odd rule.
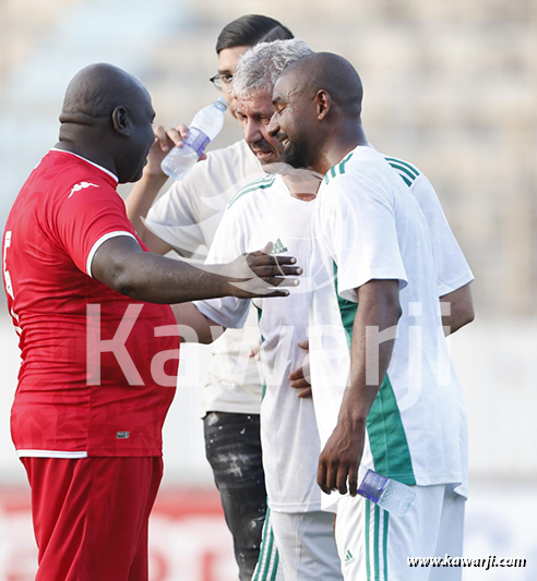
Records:
[[[124,296],[91,276],[115,235],[144,251],[117,178],[52,149],[23,185],[3,238],[8,306],[22,366],[11,412],[20,456],[159,456],[179,337],[168,305]]]

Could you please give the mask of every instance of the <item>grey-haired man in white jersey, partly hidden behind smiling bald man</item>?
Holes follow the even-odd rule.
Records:
[[[261,44],[241,58],[234,92],[238,99],[237,116],[243,122],[247,138],[254,131],[266,134],[266,122],[261,123],[260,119],[270,117],[270,89],[279,72],[302,56],[299,46],[296,40]],[[270,136],[265,138],[270,141]],[[468,267],[432,186],[419,170],[405,161],[390,158],[389,162],[397,172],[394,175],[398,174],[402,184],[410,187],[429,215],[430,228],[438,241],[439,264],[450,259],[453,263],[453,274],[445,277],[442,269],[439,280],[449,278],[453,282],[449,292],[457,291],[468,282]],[[318,183],[313,178],[312,189],[303,178],[301,183],[299,179],[299,175],[267,175],[240,191],[220,221],[210,259],[225,261],[237,249],[246,252],[255,247],[259,240],[272,240],[273,253],[298,253],[300,263],[307,264],[314,206],[311,192],[317,192]],[[472,274],[469,276],[472,278]],[[333,553],[326,552],[333,543],[332,518],[320,511],[321,494],[313,485],[320,453],[315,417],[311,401],[297,399],[288,379],[289,372],[303,360],[298,341],[307,337],[308,281],[308,276],[302,277],[301,292],[293,292],[285,305],[255,301],[260,308],[261,359],[266,382],[261,408],[263,463],[271,523],[285,578],[331,579],[339,578],[341,573],[335,571]],[[442,288],[439,283],[439,294],[445,294],[446,288],[446,281],[442,282]],[[236,327],[248,312],[244,303],[207,301],[196,304],[210,319],[225,327]],[[461,312],[460,301],[455,303]],[[458,317],[457,326],[463,324],[463,318]],[[271,537],[265,536],[258,572],[270,566],[272,545]]]

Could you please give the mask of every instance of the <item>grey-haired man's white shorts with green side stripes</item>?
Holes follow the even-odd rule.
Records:
[[[334,515],[322,510],[267,510],[252,581],[343,581],[333,523]]]

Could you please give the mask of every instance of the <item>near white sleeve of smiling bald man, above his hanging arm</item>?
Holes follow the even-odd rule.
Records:
[[[355,289],[373,279],[407,283],[394,216],[393,193],[367,178],[341,175],[326,186],[317,213],[324,222],[337,266],[338,294],[356,301]],[[324,207],[323,207],[324,206]]]

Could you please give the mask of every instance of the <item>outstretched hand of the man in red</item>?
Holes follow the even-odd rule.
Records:
[[[302,274],[297,259],[293,256],[272,256],[272,242],[262,251],[250,252],[237,257],[226,267],[229,282],[229,294],[239,299],[253,296],[287,296],[288,290],[276,290],[274,287],[297,287],[296,278]]]

